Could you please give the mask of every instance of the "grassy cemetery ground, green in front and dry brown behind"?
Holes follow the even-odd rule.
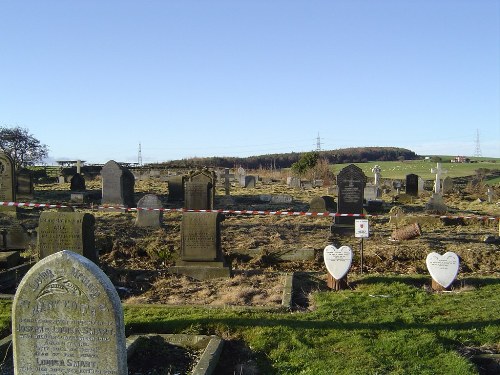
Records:
[[[222,249],[234,277],[195,281],[167,272],[180,248],[180,213],[164,213],[162,227],[149,229],[134,226],[134,212],[76,210],[96,218],[99,264],[118,287],[127,334],[218,335],[225,345],[216,374],[493,374],[498,359],[495,364],[489,358],[500,353],[500,248],[484,239],[499,234],[499,222],[461,217],[498,218],[500,209],[498,199],[485,202],[485,186],[461,178],[462,185],[445,196],[450,215],[460,218],[426,214],[430,193],[400,196],[390,205],[396,194],[385,194],[393,208],[369,218],[362,275],[360,240],[331,235],[328,217],[228,214],[221,224]],[[87,182],[87,189],[98,197],[100,182]],[[498,185],[495,190],[498,197]],[[163,182],[137,181],[136,198],[147,192],[159,195],[166,208],[180,207],[168,201]],[[269,205],[260,194],[289,194],[294,200]],[[323,187],[259,183],[253,189],[233,187],[231,207],[218,204],[223,195],[218,188],[216,208],[307,211],[313,196],[328,194]],[[66,184],[35,187],[35,201],[63,203],[68,197]],[[34,229],[39,213],[22,210],[20,221]],[[419,223],[421,236],[390,240],[394,229],[412,222]],[[326,287],[322,251],[330,243],[355,252],[348,289],[339,292]],[[284,260],[302,249],[312,258]],[[449,292],[430,289],[425,257],[432,251],[460,256],[458,280]],[[33,254],[34,248],[23,256]],[[283,307],[284,278],[292,273],[292,304]],[[10,331],[10,308],[9,300],[0,301],[2,337]],[[150,356],[165,355],[152,346]],[[173,362],[194,355],[177,354]]]

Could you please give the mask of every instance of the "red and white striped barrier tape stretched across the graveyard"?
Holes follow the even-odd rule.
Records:
[[[36,207],[36,208],[65,208],[70,205],[27,203],[27,202],[0,202],[0,206],[8,207]],[[302,212],[302,211],[270,211],[270,210],[190,210],[187,208],[145,208],[145,207],[123,207],[123,206],[99,206],[99,209],[112,209],[123,211],[162,211],[162,212],[218,212],[232,215],[277,215],[277,216],[312,216],[312,217],[384,217],[388,215],[372,214],[339,214],[334,212]],[[500,220],[500,217],[492,216],[458,216],[458,215],[426,215],[440,219],[476,219],[476,220]]]

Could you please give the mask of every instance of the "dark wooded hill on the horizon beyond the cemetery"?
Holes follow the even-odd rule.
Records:
[[[330,164],[414,160],[419,158],[413,151],[398,147],[353,147],[320,151],[318,153],[320,158],[328,160]],[[155,165],[168,168],[194,168],[202,166],[214,168],[233,168],[235,166],[242,166],[248,169],[257,169],[260,167],[290,168],[293,163],[299,160],[302,154],[304,153],[291,152],[285,154],[249,156],[246,158],[214,156],[208,158],[172,160]]]

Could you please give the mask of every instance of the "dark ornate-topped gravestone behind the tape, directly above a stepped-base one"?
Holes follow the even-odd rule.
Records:
[[[213,210],[215,181],[215,172],[208,169],[190,172],[185,182],[184,208],[188,210]]]

